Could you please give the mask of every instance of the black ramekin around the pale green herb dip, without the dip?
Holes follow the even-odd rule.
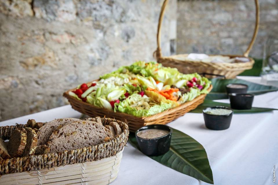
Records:
[[[222,108],[222,109],[229,109],[228,107],[224,106],[216,106],[216,107],[208,107],[203,110],[203,116],[205,120],[205,125],[208,129],[212,130],[225,130],[230,127],[232,116],[233,116],[233,110],[230,114],[225,115],[212,115],[207,114],[205,111],[207,109],[215,109],[215,108]]]

